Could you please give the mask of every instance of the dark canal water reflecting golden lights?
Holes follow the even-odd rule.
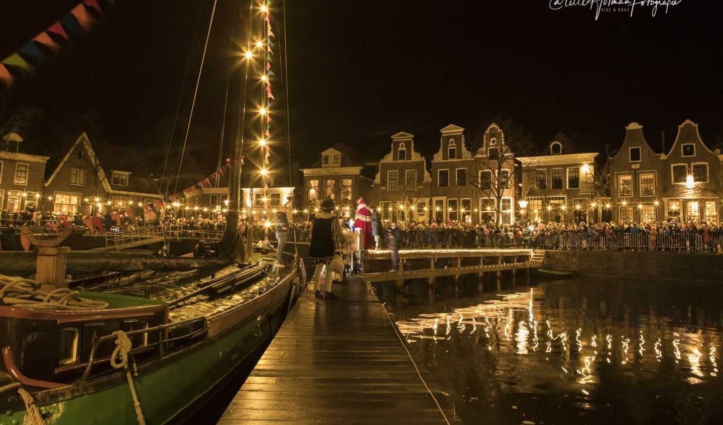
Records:
[[[377,286],[463,424],[723,424],[715,285],[471,278],[405,292]]]

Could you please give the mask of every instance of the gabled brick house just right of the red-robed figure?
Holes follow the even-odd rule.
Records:
[[[427,161],[414,150],[414,135],[398,132],[392,137],[391,150],[379,162],[370,204],[385,220],[414,220],[424,223],[429,211],[432,177]]]

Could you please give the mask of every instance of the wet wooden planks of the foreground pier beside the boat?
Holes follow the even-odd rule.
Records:
[[[377,296],[334,292],[307,288],[219,424],[445,424]]]

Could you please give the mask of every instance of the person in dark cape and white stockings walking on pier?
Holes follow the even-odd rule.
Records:
[[[333,272],[329,263],[335,255],[341,255],[344,247],[344,236],[339,226],[339,219],[334,214],[334,201],[325,199],[321,203],[321,213],[318,213],[312,222],[311,242],[309,243],[309,261],[316,263],[312,286],[314,296],[323,299],[337,299],[331,291]],[[319,280],[322,269],[326,267],[326,287],[324,293],[320,290]]]

